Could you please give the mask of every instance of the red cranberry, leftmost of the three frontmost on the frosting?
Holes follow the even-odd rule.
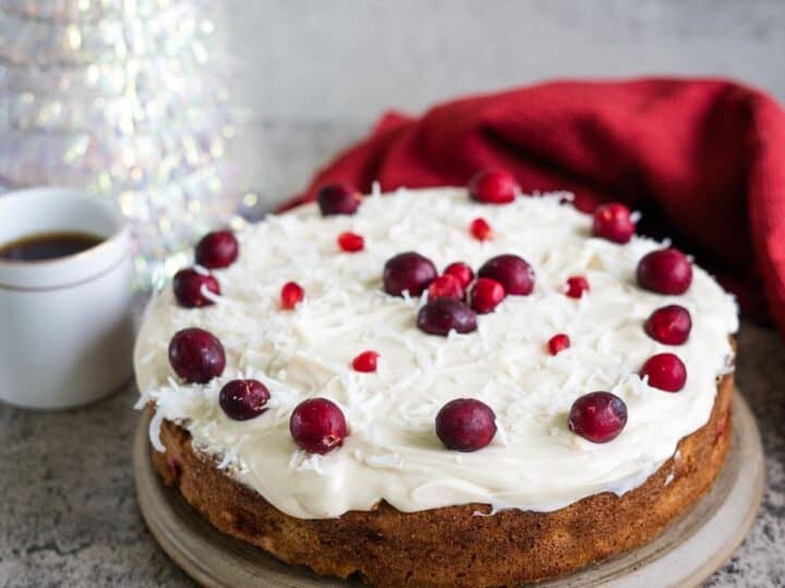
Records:
[[[294,442],[309,453],[329,453],[347,437],[346,418],[327,399],[310,399],[297,405],[289,419]]]

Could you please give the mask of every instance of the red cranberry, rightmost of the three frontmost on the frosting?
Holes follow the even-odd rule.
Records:
[[[593,443],[607,443],[627,425],[627,405],[611,392],[591,392],[572,403],[567,424]]]

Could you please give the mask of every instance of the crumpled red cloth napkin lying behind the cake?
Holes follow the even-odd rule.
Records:
[[[463,185],[485,167],[526,192],[571,191],[585,211],[642,211],[640,232],[673,237],[785,334],[785,112],[765,94],[720,79],[565,81],[388,113],[289,206],[330,182]]]

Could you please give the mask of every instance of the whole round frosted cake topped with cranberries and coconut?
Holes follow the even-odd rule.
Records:
[[[153,463],[216,528],[376,586],[517,586],[656,537],[729,445],[732,296],[635,215],[328,186],[149,304]]]

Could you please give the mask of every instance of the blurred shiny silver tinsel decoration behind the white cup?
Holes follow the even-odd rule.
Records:
[[[194,238],[237,205],[234,126],[203,12],[179,0],[0,0],[0,187],[116,198],[141,285],[188,264]]]

